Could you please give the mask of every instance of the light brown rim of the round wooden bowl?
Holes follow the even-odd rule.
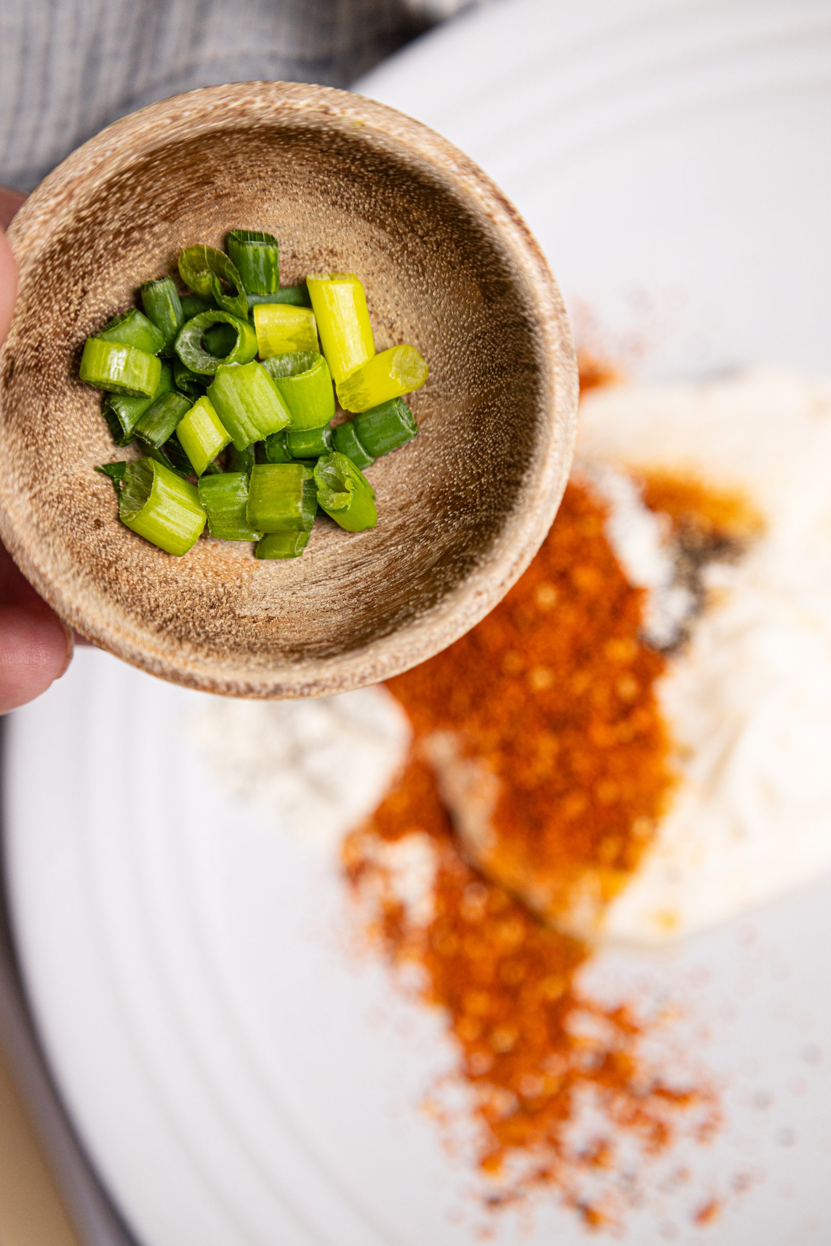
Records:
[[[126,628],[103,606],[86,599],[74,577],[61,576],[59,567],[50,571],[50,557],[39,547],[37,532],[26,525],[15,497],[0,480],[0,540],[67,624],[98,648],[152,675],[228,697],[295,698],[346,692],[400,674],[452,644],[502,599],[542,545],[566,488],[577,435],[578,376],[571,325],[559,288],[525,221],[491,178],[441,135],[387,105],[349,91],[298,82],[237,82],[199,87],[120,118],[71,152],[15,216],[9,240],[20,283],[44,237],[54,238],[61,219],[71,213],[76,191],[90,178],[98,179],[116,167],[128,168],[131,158],[141,158],[141,145],[133,141],[146,140],[151,127],[169,141],[239,122],[270,123],[292,113],[323,125],[345,123],[376,132],[426,161],[491,218],[536,303],[537,329],[548,348],[541,358],[548,359],[542,384],[551,394],[551,421],[548,436],[541,437],[531,461],[533,476],[523,481],[522,505],[507,516],[487,556],[441,602],[348,654],[283,662],[274,668],[223,664],[221,670],[212,670],[211,662],[198,654],[188,659],[181,650],[167,650],[163,635]],[[0,412],[2,363],[12,334],[14,318],[0,350]]]

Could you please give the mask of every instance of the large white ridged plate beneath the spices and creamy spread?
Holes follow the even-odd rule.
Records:
[[[643,371],[827,370],[830,36],[825,0],[522,0],[365,90],[488,169],[573,305],[650,344]],[[10,723],[14,928],[80,1134],[146,1246],[466,1246],[468,1169],[415,1106],[452,1059],[441,1022],[355,956],[331,866],[222,794],[183,730],[199,700],[85,652]],[[603,958],[688,999],[726,1083],[694,1189],[648,1200],[639,1246],[670,1222],[685,1244],[831,1239],[829,948],[824,882]],[[693,1227],[740,1171],[753,1189]],[[552,1240],[583,1241],[553,1204],[528,1241]]]

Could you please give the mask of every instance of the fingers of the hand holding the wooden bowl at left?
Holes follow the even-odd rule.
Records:
[[[0,188],[0,345],[17,293],[17,270],[2,227],[22,201],[16,191]],[[72,633],[0,546],[0,714],[45,693],[64,674],[71,657]]]

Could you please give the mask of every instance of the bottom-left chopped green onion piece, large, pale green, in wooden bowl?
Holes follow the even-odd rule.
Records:
[[[177,556],[196,545],[206,522],[196,485],[153,459],[127,465],[118,513],[140,537]]]

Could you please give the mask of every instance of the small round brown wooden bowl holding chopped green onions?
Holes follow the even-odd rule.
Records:
[[[280,242],[282,279],[365,283],[381,350],[430,364],[416,440],[370,470],[380,521],[319,521],[302,558],[202,540],[173,558],[117,520],[96,464],[125,457],[77,379],[87,334],[234,226]],[[10,232],[20,295],[0,354],[0,537],[95,644],[233,697],[384,679],[482,618],[554,517],[577,374],[537,244],[470,159],[370,100],[249,82],[143,108],[78,148]]]

